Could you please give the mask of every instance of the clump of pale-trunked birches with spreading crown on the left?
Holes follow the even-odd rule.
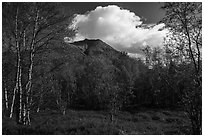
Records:
[[[30,125],[30,108],[33,101],[33,67],[35,56],[42,47],[64,40],[70,34],[67,26],[70,16],[60,13],[54,3],[3,3],[3,32],[11,36],[17,55],[16,85],[10,117],[15,110],[20,124]],[[22,58],[28,53],[27,76],[22,85]],[[15,102],[15,103],[14,103]]]

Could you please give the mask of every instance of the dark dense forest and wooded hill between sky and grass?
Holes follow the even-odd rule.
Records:
[[[56,3],[2,3],[2,133],[53,134],[34,129],[46,114],[106,112],[111,125],[146,108],[185,112],[188,134],[202,134],[202,4],[161,8],[169,34],[141,59],[99,39],[66,42],[74,14]]]

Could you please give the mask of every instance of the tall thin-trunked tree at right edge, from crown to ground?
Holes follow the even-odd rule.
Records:
[[[202,48],[202,3],[180,2],[165,3],[162,7],[166,15],[162,22],[170,30],[172,47],[183,53],[187,64],[192,64],[189,77],[191,82],[185,88],[183,103],[191,119],[193,134],[201,134],[201,48]],[[167,44],[170,44],[167,42]],[[187,53],[187,54],[185,54]]]

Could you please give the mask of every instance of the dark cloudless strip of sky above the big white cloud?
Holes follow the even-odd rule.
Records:
[[[62,6],[67,12],[70,10],[77,14],[85,14],[94,10],[97,6],[117,5],[128,9],[138,16],[146,19],[144,23],[156,23],[164,16],[165,12],[160,9],[162,2],[64,2]]]

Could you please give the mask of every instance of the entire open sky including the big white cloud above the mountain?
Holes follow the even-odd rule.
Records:
[[[162,46],[168,32],[162,29],[164,24],[158,24],[165,15],[162,5],[159,2],[69,2],[63,3],[62,8],[75,13],[69,27],[77,33],[70,41],[101,39],[116,50],[140,57],[144,46]]]

